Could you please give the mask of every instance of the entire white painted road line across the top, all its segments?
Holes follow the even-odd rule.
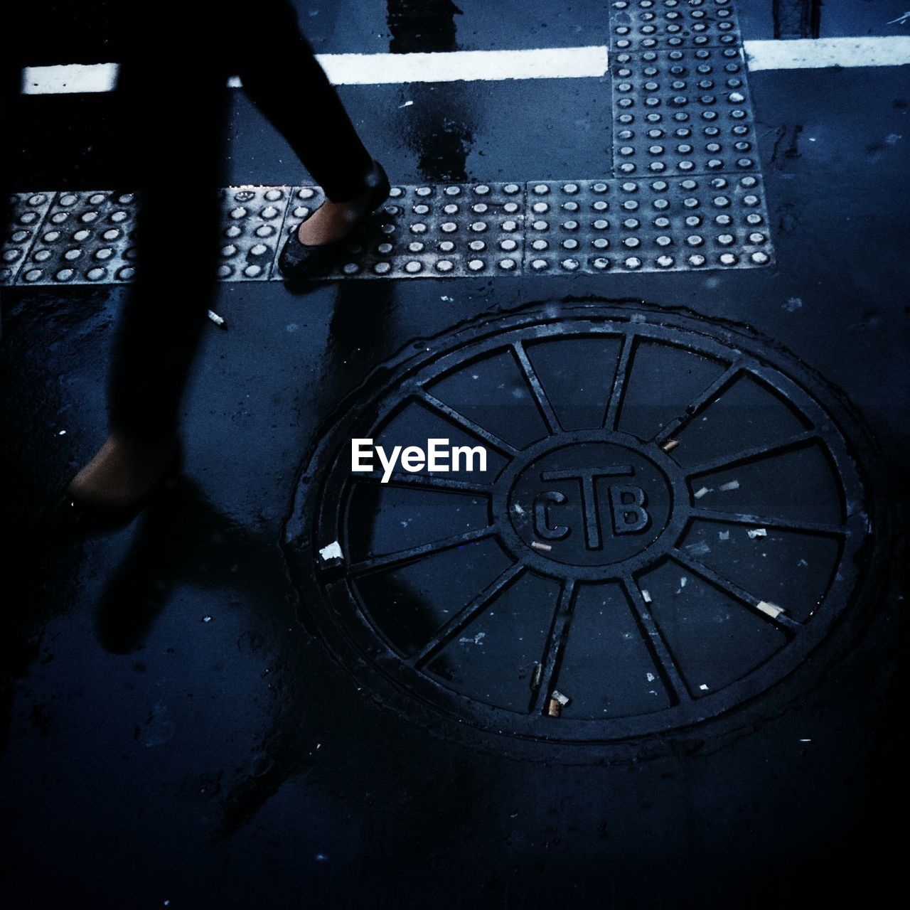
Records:
[[[746,41],[744,46],[753,72],[910,64],[910,35]],[[577,79],[604,76],[607,72],[607,48],[599,45],[438,54],[320,54],[318,59],[336,86]],[[116,63],[29,66],[23,77],[23,92],[25,95],[109,92],[116,85],[116,74]],[[240,80],[234,76],[228,85],[239,87]]]

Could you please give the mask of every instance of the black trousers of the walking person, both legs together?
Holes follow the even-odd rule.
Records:
[[[177,429],[180,403],[214,289],[227,122],[227,76],[287,139],[333,201],[359,196],[372,159],[300,34],[288,0],[258,0],[270,40],[238,43],[246,7],[217,5],[204,34],[176,0],[154,7],[120,71],[126,150],[142,193],[139,266],[117,332],[108,401],[116,430],[155,439]],[[195,20],[194,20],[195,21]],[[237,60],[230,60],[236,47]],[[215,63],[209,54],[215,52]],[[303,125],[304,113],[318,132]]]

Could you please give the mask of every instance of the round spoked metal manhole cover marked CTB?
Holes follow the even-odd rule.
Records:
[[[309,460],[288,545],[380,699],[550,741],[677,729],[782,679],[854,598],[869,525],[844,413],[743,333],[539,307],[378,375]],[[458,470],[382,482],[352,439],[449,440]]]

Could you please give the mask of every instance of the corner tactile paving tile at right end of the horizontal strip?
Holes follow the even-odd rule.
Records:
[[[528,185],[525,271],[750,268],[773,261],[760,177]]]

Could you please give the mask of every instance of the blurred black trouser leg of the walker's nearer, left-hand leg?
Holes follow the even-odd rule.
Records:
[[[177,430],[211,305],[226,78],[193,64],[168,75],[141,58],[121,67],[126,149],[141,194],[139,261],[117,330],[108,402],[113,429],[148,440]]]

